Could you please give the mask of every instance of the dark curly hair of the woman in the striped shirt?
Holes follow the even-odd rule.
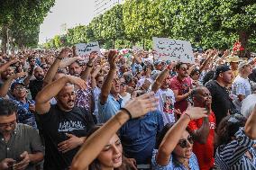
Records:
[[[231,121],[234,120],[234,121]],[[233,114],[224,117],[217,127],[217,142],[216,147],[226,145],[232,141],[234,134],[240,127],[245,125],[246,118],[242,114]]]

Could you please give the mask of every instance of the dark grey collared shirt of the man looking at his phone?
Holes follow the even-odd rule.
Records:
[[[36,152],[43,153],[41,139],[37,130],[31,126],[17,123],[14,133],[8,142],[0,134],[0,162],[5,158],[13,158],[17,163],[21,160],[20,155],[27,151],[29,154]],[[33,170],[34,165],[30,164],[26,170]]]

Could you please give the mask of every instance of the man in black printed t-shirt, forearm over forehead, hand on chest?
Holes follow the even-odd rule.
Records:
[[[66,53],[68,51],[61,51],[60,55]],[[68,169],[88,130],[94,126],[91,114],[75,107],[74,84],[81,89],[87,88],[86,82],[79,77],[62,76],[45,86],[36,96],[36,112],[45,140],[45,170]],[[56,98],[56,105],[50,105],[52,97]]]

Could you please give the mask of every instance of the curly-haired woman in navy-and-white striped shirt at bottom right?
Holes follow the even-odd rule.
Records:
[[[242,115],[233,114],[220,122],[215,154],[215,164],[219,169],[256,169],[256,152],[253,148],[253,139],[256,139],[255,120],[254,108],[247,121]]]

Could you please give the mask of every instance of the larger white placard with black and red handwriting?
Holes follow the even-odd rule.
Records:
[[[153,49],[155,59],[195,64],[191,44],[186,40],[153,37]]]

